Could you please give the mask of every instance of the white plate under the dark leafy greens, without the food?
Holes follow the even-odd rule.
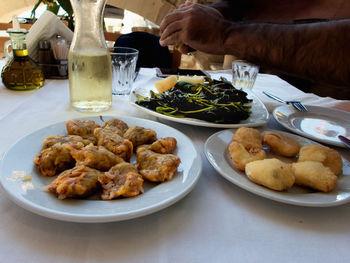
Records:
[[[253,102],[251,103],[252,113],[248,119],[236,124],[219,124],[219,123],[207,122],[207,121],[193,119],[193,118],[176,118],[176,117],[160,114],[156,111],[137,105],[135,103],[135,101],[137,101],[136,94],[139,94],[144,97],[149,97],[150,90],[157,92],[156,89],[154,88],[154,82],[158,80],[160,80],[160,78],[152,78],[144,85],[136,87],[133,90],[133,92],[131,92],[130,94],[130,102],[132,103],[132,105],[136,106],[138,109],[148,114],[151,114],[161,119],[166,119],[170,121],[175,121],[175,122],[190,124],[195,126],[204,126],[204,127],[214,127],[214,128],[239,128],[243,126],[258,127],[258,126],[264,126],[269,120],[269,112],[267,111],[264,103],[262,103],[262,101],[249,89],[244,89],[244,91],[248,94],[248,98],[253,100]]]

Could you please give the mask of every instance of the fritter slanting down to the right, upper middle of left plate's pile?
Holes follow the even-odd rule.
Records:
[[[96,128],[94,135],[97,138],[97,145],[103,146],[115,155],[129,161],[133,153],[132,142],[124,139],[116,132],[105,128]]]

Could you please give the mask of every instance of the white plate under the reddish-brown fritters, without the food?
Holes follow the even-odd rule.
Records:
[[[170,206],[189,193],[198,181],[202,160],[191,140],[183,133],[169,126],[150,120],[132,117],[118,118],[129,126],[142,126],[157,132],[157,137],[172,136],[178,142],[175,154],[181,164],[173,180],[150,187],[145,193],[133,198],[121,198],[112,201],[89,199],[59,200],[52,193],[43,190],[54,178],[40,175],[33,159],[42,147],[45,137],[66,134],[65,122],[39,129],[19,141],[4,155],[0,167],[0,182],[9,197],[23,208],[39,215],[71,222],[112,222],[144,216]],[[87,118],[102,124],[99,117]],[[31,175],[31,180],[25,180]],[[97,198],[96,198],[97,199]]]

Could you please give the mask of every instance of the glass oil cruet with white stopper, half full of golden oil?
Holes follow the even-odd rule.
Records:
[[[5,87],[12,90],[33,90],[44,84],[44,74],[29,56],[26,45],[27,30],[20,28],[17,17],[13,19],[13,28],[8,29],[11,42],[5,46],[5,53],[9,57],[2,68],[1,78]],[[12,46],[12,54],[8,52]]]

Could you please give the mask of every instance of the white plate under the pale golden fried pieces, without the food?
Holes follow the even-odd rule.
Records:
[[[264,129],[259,129],[261,132]],[[266,130],[266,129],[265,129]],[[276,131],[286,134],[296,139],[302,146],[308,144],[318,144],[307,138],[294,134]],[[343,158],[343,174],[338,176],[338,184],[329,193],[314,192],[306,188],[293,186],[285,192],[270,190],[258,184],[251,182],[244,172],[234,168],[231,162],[228,145],[232,140],[235,130],[224,130],[213,134],[205,143],[205,154],[207,159],[215,170],[231,183],[252,192],[256,195],[275,200],[282,203],[311,206],[327,207],[337,206],[350,202],[350,163]],[[277,157],[268,152],[268,158],[276,157],[285,162],[292,162],[290,158]]]

